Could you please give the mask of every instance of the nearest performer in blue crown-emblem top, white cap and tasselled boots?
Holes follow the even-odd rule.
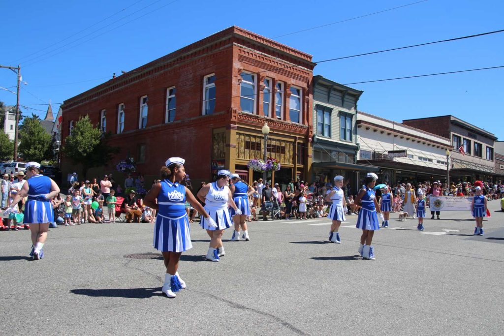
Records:
[[[174,292],[185,288],[185,282],[177,272],[178,260],[183,251],[193,247],[185,201],[206,217],[210,226],[216,227],[193,193],[180,184],[185,178],[184,162],[181,158],[169,158],[166,166],[161,168],[161,182],[154,184],[144,198],[144,205],[157,210],[154,248],[163,254],[166,276],[162,292],[169,298],[174,298]]]

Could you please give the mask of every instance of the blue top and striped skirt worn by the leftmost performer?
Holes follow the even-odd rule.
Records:
[[[45,195],[51,192],[51,179],[44,175],[30,177],[28,183],[28,200],[25,204],[24,224],[54,222],[51,200]]]

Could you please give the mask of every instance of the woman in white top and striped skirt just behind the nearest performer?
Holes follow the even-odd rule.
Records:
[[[219,261],[220,256],[225,254],[222,244],[222,234],[224,230],[233,225],[229,214],[229,206],[234,209],[235,214],[241,215],[241,210],[234,204],[231,190],[227,186],[231,172],[219,170],[217,180],[208,183],[198,191],[198,198],[205,203],[205,211],[215,220],[217,225],[210,226],[206,218],[201,219],[201,227],[207,230],[210,236],[210,246],[207,252],[207,260]]]

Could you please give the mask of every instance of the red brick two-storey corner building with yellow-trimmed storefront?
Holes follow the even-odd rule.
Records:
[[[86,178],[116,172],[130,156],[150,186],[165,160],[180,156],[193,183],[224,167],[251,182],[262,174],[246,164],[263,157],[268,122],[268,156],[282,165],[273,180],[307,177],[314,65],[311,55],[233,26],[66,100],[62,139],[86,114],[113,133],[120,153]],[[62,160],[64,176],[74,170]]]

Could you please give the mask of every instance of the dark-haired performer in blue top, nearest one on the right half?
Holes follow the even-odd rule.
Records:
[[[358,229],[362,229],[359,253],[364,259],[368,260],[375,260],[374,248],[371,245],[371,242],[374,231],[380,230],[380,223],[378,222],[378,216],[376,215],[376,209],[380,208],[378,207],[376,195],[373,190],[377,179],[378,176],[375,173],[367,173],[366,178],[364,179],[364,185],[359,190],[359,194],[354,201],[356,205],[362,207],[359,211],[359,217],[357,218],[356,225]]]

